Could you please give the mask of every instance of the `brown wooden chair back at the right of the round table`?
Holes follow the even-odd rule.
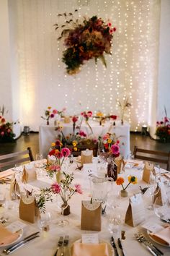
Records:
[[[170,151],[169,153],[163,151],[155,151],[155,150],[146,150],[143,148],[138,148],[135,146],[133,152],[135,159],[142,159],[146,161],[151,161],[155,163],[164,163],[166,164],[166,170],[169,170],[169,163],[170,163]]]

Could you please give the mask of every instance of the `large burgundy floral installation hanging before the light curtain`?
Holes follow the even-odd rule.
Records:
[[[58,14],[58,16],[66,19],[61,26],[55,24],[55,30],[62,29],[58,40],[65,38],[66,50],[63,51],[62,61],[66,64],[68,74],[78,73],[84,61],[89,59],[94,59],[96,62],[97,59],[101,59],[107,67],[104,53],[111,54],[112,38],[116,28],[97,16],[84,17],[82,22],[78,19],[74,22],[72,13]]]

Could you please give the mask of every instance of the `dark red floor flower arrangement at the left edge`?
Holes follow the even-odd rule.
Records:
[[[12,124],[4,118],[5,108],[0,108],[0,142],[14,142],[14,132],[12,131]],[[6,111],[7,113],[8,111]]]

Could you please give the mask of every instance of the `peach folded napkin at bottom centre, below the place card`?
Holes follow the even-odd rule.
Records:
[[[106,243],[103,244],[82,244],[75,242],[71,248],[71,256],[109,256]]]

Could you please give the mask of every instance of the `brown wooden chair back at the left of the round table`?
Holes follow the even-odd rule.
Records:
[[[25,163],[28,161],[34,161],[31,148],[16,153],[0,155],[0,168],[4,171],[6,168],[14,167],[16,163]]]

